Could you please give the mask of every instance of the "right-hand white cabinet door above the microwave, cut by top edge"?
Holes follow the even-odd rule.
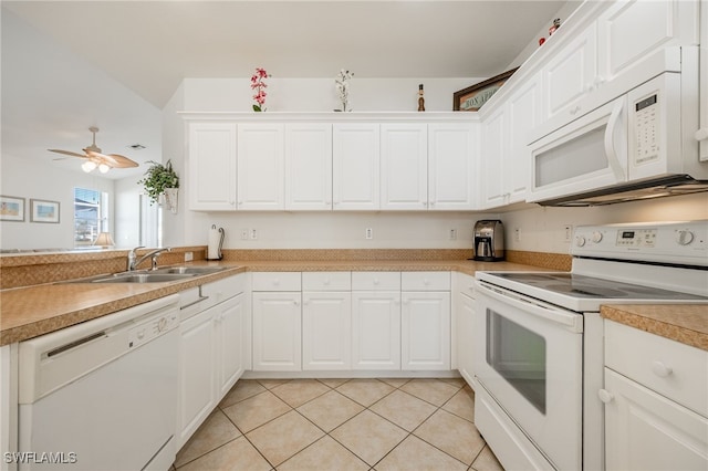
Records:
[[[658,49],[698,41],[698,1],[620,0],[597,20],[600,76],[612,81]]]

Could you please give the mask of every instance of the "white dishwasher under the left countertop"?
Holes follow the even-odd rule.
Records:
[[[20,343],[20,470],[167,470],[179,296]]]

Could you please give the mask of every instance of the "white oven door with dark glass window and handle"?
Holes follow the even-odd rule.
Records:
[[[553,467],[581,469],[583,316],[476,284],[476,380]]]

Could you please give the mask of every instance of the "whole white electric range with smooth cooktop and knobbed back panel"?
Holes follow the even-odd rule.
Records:
[[[603,304],[708,304],[708,221],[575,229],[571,272],[478,272],[476,425],[507,469],[603,469]]]

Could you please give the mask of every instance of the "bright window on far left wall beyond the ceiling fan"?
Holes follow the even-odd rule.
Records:
[[[107,232],[108,193],[74,188],[74,247],[91,247],[98,232]]]

